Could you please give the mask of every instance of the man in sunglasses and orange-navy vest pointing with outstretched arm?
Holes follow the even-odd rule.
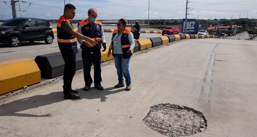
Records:
[[[65,99],[77,99],[80,96],[74,95],[78,91],[71,89],[71,83],[76,71],[76,54],[77,38],[84,39],[88,45],[94,46],[97,44],[93,39],[83,36],[76,31],[69,19],[75,17],[75,6],[72,4],[66,4],[64,7],[63,16],[60,17],[57,23],[57,41],[64,60],[63,71],[63,93]]]

